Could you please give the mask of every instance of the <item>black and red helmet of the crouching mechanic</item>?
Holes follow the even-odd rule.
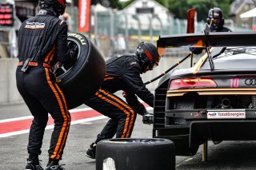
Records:
[[[136,50],[136,55],[140,61],[142,67],[142,73],[146,73],[146,68],[154,69],[160,61],[157,47],[150,42],[141,42]]]

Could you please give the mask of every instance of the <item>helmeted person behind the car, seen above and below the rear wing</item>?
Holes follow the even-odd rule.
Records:
[[[220,8],[211,8],[208,12],[208,18],[206,19],[207,24],[210,26],[210,32],[232,32],[229,28],[224,25],[224,18],[222,10]],[[204,48],[190,47],[190,51],[194,54],[202,53]]]

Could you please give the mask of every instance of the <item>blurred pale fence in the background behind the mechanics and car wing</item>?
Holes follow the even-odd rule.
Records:
[[[70,31],[78,31],[78,11],[68,10]],[[73,16],[73,17],[72,17]],[[227,26],[233,31],[250,31],[234,26],[231,20],[226,20]],[[194,32],[199,33],[205,28],[205,22],[195,22]],[[91,27],[87,34],[97,45],[104,57],[112,57],[118,53],[133,53],[139,42],[156,44],[159,35],[186,34],[186,20],[177,18],[161,18],[161,14],[126,14],[125,12],[106,8],[91,9]],[[171,49],[179,55],[176,49]]]

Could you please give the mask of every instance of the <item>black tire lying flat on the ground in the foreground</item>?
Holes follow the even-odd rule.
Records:
[[[175,169],[174,152],[174,143],[166,139],[101,140],[96,148],[96,170],[102,170],[106,160],[112,160],[118,170],[171,170]]]

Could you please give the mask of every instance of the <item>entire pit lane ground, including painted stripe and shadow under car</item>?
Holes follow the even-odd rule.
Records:
[[[90,110],[86,108],[86,105],[78,108],[78,110],[81,109]],[[74,113],[72,114],[74,115]],[[66,142],[63,160],[61,161],[61,164],[66,164],[64,168],[67,170],[95,169],[95,160],[91,160],[85,156],[86,149],[91,142],[94,142],[96,135],[106,124],[108,118],[94,113],[98,117],[97,120],[93,117],[89,118],[91,113],[86,114],[84,114],[83,121],[73,120],[77,122],[70,126],[70,133]],[[0,105],[0,120],[5,120],[0,121],[0,131],[4,132],[6,123],[12,121],[14,124],[10,125],[7,129],[10,130],[10,128],[13,128],[14,131],[19,131],[23,125],[17,123],[19,117],[30,118],[30,112],[26,108],[26,105]],[[9,121],[6,121],[6,119]],[[30,123],[26,122],[25,125],[30,126]],[[40,160],[42,160],[43,168],[46,168],[48,159],[47,149],[50,145],[51,132],[52,128],[46,129],[42,144]],[[152,125],[143,125],[142,117],[138,115],[132,137],[148,138],[151,137],[151,132]],[[26,158],[28,156],[26,151],[27,141],[27,132],[0,137],[0,169],[25,169]],[[202,162],[201,152],[202,148],[199,148],[198,153],[193,157],[176,156],[176,169],[256,169],[255,141],[226,141],[217,145],[209,142],[208,161],[206,162]]]

